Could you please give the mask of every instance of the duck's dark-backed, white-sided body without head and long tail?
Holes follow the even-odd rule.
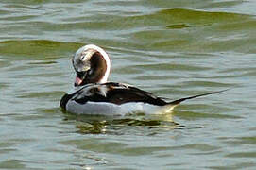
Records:
[[[166,112],[175,104],[126,84],[108,82],[88,84],[75,93],[65,94],[60,106],[77,114],[124,115],[135,112]]]

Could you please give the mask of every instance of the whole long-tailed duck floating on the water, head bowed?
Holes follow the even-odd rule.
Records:
[[[72,59],[77,72],[75,91],[66,93],[60,107],[77,114],[124,115],[128,113],[170,112],[180,102],[213,93],[204,93],[166,102],[161,97],[136,87],[107,82],[111,59],[100,47],[89,44],[79,48]]]

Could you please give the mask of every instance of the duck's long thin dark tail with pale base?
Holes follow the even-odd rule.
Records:
[[[164,111],[165,112],[170,112],[171,110],[173,110],[176,106],[179,105],[179,103],[185,101],[185,100],[189,100],[189,99],[193,99],[193,98],[197,98],[197,97],[200,97],[200,96],[205,96],[205,95],[211,95],[211,94],[214,94],[214,93],[222,93],[222,92],[225,92],[225,91],[228,91],[229,89],[226,89],[226,90],[222,90],[222,91],[217,91],[217,92],[212,92],[212,93],[202,93],[202,94],[198,94],[198,95],[193,95],[193,96],[189,96],[189,97],[184,97],[184,98],[180,98],[178,100],[174,100],[174,101],[171,101],[171,102],[168,102],[165,106],[164,106]]]

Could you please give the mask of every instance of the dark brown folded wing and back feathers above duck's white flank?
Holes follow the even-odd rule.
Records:
[[[145,92],[133,86],[122,83],[108,82],[104,84],[92,84],[80,89],[72,98],[80,104],[88,101],[109,102],[122,105],[128,102],[143,102],[157,106],[166,105],[162,98]]]

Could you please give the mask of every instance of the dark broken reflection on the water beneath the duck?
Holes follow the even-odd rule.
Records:
[[[65,113],[65,121],[75,120],[77,132],[82,134],[120,134],[118,129],[124,127],[180,128],[168,114],[132,114],[128,116],[95,116]]]

